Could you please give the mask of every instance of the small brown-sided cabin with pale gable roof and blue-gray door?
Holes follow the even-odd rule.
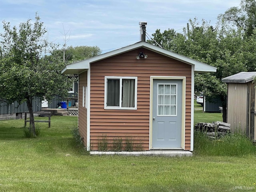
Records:
[[[142,31],[143,34],[143,31]],[[216,68],[143,41],[70,64],[87,150],[193,151],[194,74]],[[117,146],[116,146],[117,147]]]

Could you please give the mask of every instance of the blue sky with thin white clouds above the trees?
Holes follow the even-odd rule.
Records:
[[[2,21],[18,26],[35,13],[48,30],[48,40],[64,44],[64,30],[70,31],[67,46],[98,46],[103,52],[140,41],[140,21],[146,32],[174,29],[182,32],[188,20],[198,18],[215,26],[218,14],[240,0],[0,0]]]

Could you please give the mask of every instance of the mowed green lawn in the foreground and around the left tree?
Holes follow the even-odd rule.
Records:
[[[0,122],[1,192],[219,192],[256,189],[255,155],[193,157],[90,156],[72,137],[77,117],[38,123],[24,138],[24,120]],[[253,190],[250,190],[253,191]]]

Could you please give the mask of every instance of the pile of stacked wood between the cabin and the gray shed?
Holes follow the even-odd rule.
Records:
[[[225,122],[212,122],[212,123],[197,123],[195,125],[195,130],[206,132],[211,138],[215,138],[216,134],[223,135],[230,132],[230,124]]]

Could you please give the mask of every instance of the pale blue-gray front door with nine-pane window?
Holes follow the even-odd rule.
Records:
[[[153,80],[152,118],[152,148],[181,148],[182,80]]]

